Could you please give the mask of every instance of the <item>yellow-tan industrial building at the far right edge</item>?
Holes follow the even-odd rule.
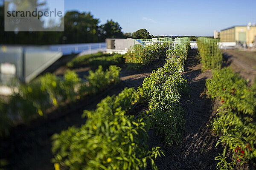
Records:
[[[256,26],[233,26],[221,30],[221,42],[236,42],[252,45],[256,37]],[[255,42],[254,42],[255,43]]]

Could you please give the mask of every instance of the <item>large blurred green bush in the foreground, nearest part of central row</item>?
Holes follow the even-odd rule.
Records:
[[[157,169],[154,159],[162,151],[148,150],[145,119],[125,114],[137,96],[134,88],[126,88],[103,99],[95,111],[84,111],[85,125],[52,136],[53,161],[70,170],[131,170],[145,169],[150,160]]]

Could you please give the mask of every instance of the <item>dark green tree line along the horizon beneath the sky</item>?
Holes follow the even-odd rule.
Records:
[[[5,32],[4,7],[0,6],[0,44],[44,45],[105,42],[106,38],[154,38],[146,29],[124,34],[118,22],[108,20],[102,25],[99,22],[90,12],[68,11],[64,16],[63,32]],[[168,36],[155,36],[161,37]]]

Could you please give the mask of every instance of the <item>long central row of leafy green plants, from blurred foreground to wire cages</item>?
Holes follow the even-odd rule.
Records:
[[[85,125],[70,127],[52,137],[55,166],[71,170],[135,170],[145,169],[150,161],[151,167],[157,169],[154,159],[163,153],[159,147],[148,149],[149,128],[158,127],[168,144],[179,142],[184,130],[179,100],[187,92],[187,85],[177,71],[179,66],[167,57],[164,67],[145,78],[137,91],[125,88],[117,96],[99,102],[95,111],[84,111]],[[148,103],[148,111],[133,113],[141,102]]]

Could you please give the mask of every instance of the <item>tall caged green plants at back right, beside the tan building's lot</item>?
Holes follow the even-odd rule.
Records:
[[[218,39],[199,37],[197,39],[198,51],[201,57],[202,71],[221,68],[222,53],[218,48]]]

